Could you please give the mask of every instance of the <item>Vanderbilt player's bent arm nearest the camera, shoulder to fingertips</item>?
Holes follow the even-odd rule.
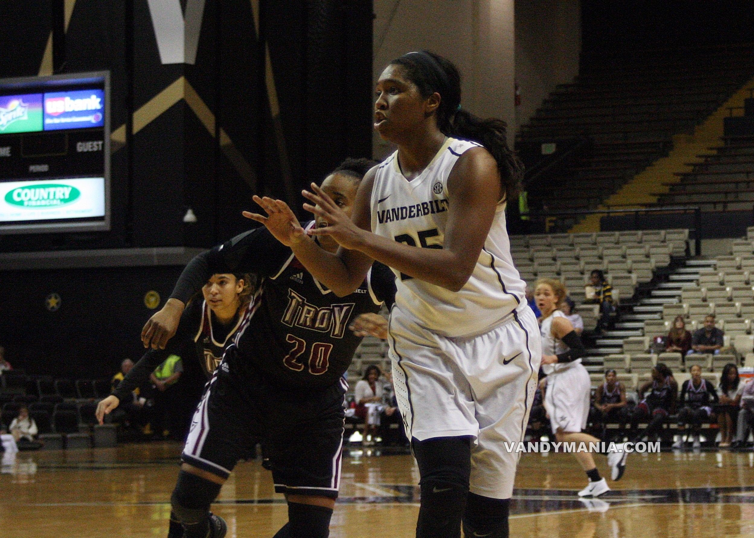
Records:
[[[448,220],[442,248],[409,246],[372,234],[369,207],[372,182],[373,175],[371,181],[365,178],[359,187],[353,221],[312,184],[314,192],[304,191],[303,194],[317,205],[305,204],[304,208],[321,216],[329,225],[310,233],[329,234],[342,246],[339,257],[348,274],[358,274],[357,270],[365,261],[375,259],[409,277],[452,292],[463,288],[479,260],[500,200],[500,175],[492,155],[484,148],[471,148],[458,157],[448,177]],[[364,183],[369,184],[369,196],[363,195]],[[360,281],[351,277],[351,292],[359,285]]]

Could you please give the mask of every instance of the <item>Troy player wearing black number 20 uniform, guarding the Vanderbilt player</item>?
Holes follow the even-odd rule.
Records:
[[[350,214],[357,187],[373,161],[346,160],[323,184]],[[298,224],[298,223],[297,223]],[[323,219],[305,225],[324,227]],[[323,238],[323,249],[337,243]],[[348,326],[361,313],[392,303],[394,277],[382,264],[339,297],[315,279],[266,228],[257,228],[198,255],[183,271],[161,313],[145,328],[161,347],[175,332],[182,305],[207,279],[249,272],[259,282],[244,320],[194,415],[171,504],[185,538],[219,538],[225,523],[210,503],[251,442],[271,445],[274,488],[288,501],[289,522],[277,538],[320,538],[338,496],[343,439],[342,376],[361,338]],[[362,327],[363,329],[363,327]]]

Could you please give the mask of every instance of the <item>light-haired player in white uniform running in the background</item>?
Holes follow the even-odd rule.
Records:
[[[558,310],[567,295],[559,280],[543,278],[537,281],[534,299],[542,313],[542,364],[547,374],[544,393],[544,408],[557,442],[599,443],[599,439],[582,433],[587,425],[590,404],[590,379],[587,369],[581,365],[586,354],[581,338],[576,334],[566,314]],[[608,454],[613,480],[620,480],[626,469],[627,454],[623,445],[616,445],[618,452]],[[610,491],[607,481],[599,475],[590,452],[575,452],[581,469],[587,473],[589,484],[578,492],[579,497],[597,497]]]

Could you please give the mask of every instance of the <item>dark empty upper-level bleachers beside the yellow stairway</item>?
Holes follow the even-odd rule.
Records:
[[[522,127],[516,143],[535,147],[584,137],[590,140],[591,149],[550,180],[532,185],[529,205],[544,209],[556,202],[559,209],[595,208],[640,170],[664,157],[673,145],[673,135],[693,132],[695,125],[751,78],[752,64],[751,53],[722,48],[694,53],[632,50],[630,54],[584,55],[576,81],[562,84],[544,100],[529,124]],[[715,179],[722,181],[728,163],[748,166],[737,160],[749,160],[750,156],[738,151],[731,145],[719,157],[711,157],[685,177],[685,186],[673,188],[661,205],[706,203],[703,191],[710,185],[704,182],[710,180],[703,172],[715,172]],[[717,173],[718,165],[721,173]],[[749,189],[743,184],[715,188]],[[688,198],[694,191],[700,194]],[[751,195],[741,200],[751,200]],[[720,194],[716,197],[720,199]],[[746,209],[750,209],[748,204]]]

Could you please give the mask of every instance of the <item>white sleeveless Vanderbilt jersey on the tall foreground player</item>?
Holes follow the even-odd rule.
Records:
[[[397,151],[378,168],[372,186],[372,231],[398,243],[442,249],[448,220],[448,176],[476,142],[446,139],[419,176],[408,181]],[[526,284],[510,257],[505,206],[495,212],[471,277],[458,292],[395,271],[396,307],[419,325],[446,337],[487,332],[524,300]]]

